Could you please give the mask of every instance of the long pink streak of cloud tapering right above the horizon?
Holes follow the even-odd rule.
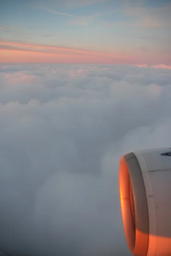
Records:
[[[0,41],[1,63],[128,63],[133,58],[107,51]]]

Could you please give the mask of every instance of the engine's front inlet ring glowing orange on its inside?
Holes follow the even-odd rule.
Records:
[[[133,153],[121,158],[119,191],[122,221],[130,252],[146,256],[149,242],[148,204],[142,171]]]

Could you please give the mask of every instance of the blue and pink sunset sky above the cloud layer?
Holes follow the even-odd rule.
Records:
[[[170,0],[0,0],[0,63],[171,65]]]

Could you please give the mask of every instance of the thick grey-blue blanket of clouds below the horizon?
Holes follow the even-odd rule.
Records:
[[[167,69],[0,65],[0,250],[130,255],[119,160],[171,144],[170,109]]]

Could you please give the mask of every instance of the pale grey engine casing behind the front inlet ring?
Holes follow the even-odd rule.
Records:
[[[149,215],[147,256],[171,255],[171,148],[136,151],[145,183]]]

